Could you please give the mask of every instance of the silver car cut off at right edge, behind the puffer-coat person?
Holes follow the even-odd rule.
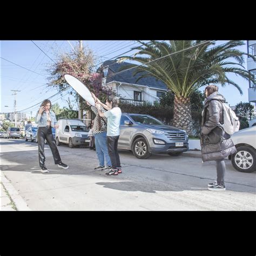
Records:
[[[256,171],[256,126],[232,134],[237,153],[230,157],[235,170],[239,172]]]

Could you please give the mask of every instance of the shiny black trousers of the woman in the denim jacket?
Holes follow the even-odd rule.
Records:
[[[56,143],[52,136],[51,127],[38,127],[37,130],[37,142],[38,142],[38,156],[39,156],[39,165],[40,167],[45,166],[45,154],[44,154],[44,140],[50,146],[52,156],[55,164],[59,164],[62,162],[59,156],[59,151],[57,149]]]

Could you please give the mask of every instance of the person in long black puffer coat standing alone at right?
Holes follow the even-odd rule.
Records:
[[[217,163],[217,181],[208,184],[208,190],[226,190],[225,161],[224,158],[237,152],[230,135],[223,129],[223,103],[225,98],[218,92],[218,86],[208,85],[205,88],[205,96],[201,122],[201,153],[203,162],[215,160]]]

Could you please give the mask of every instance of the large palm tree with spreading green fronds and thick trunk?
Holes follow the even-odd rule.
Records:
[[[124,65],[119,71],[137,67],[133,72],[133,76],[140,75],[137,81],[148,76],[163,81],[175,94],[173,125],[188,134],[192,134],[190,96],[193,91],[208,84],[231,84],[242,95],[240,86],[229,79],[227,73],[235,73],[247,80],[254,79],[242,66],[243,55],[247,53],[236,49],[244,45],[242,41],[229,41],[218,46],[210,41],[138,42],[142,45],[132,48],[138,50],[136,54],[117,59],[118,62],[135,60],[144,65]]]

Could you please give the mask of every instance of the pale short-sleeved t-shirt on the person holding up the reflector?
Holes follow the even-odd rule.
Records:
[[[107,136],[119,136],[119,125],[122,116],[120,107],[113,107],[113,109],[104,112],[104,116],[107,117]]]

